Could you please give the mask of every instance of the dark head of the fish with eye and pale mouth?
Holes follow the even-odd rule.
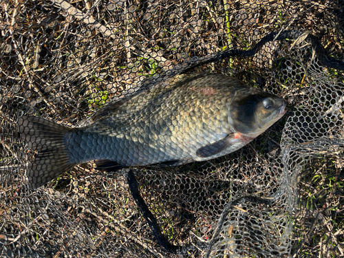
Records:
[[[235,131],[255,138],[286,114],[286,106],[283,98],[252,88],[236,94],[228,120]]]

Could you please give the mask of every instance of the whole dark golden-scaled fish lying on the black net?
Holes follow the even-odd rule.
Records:
[[[286,114],[286,100],[225,74],[178,74],[96,111],[80,127],[21,116],[17,129],[36,153],[28,186],[77,164],[96,169],[178,166],[237,151]]]

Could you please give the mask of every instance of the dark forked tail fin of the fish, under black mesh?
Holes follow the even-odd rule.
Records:
[[[38,188],[76,165],[69,163],[63,140],[65,133],[73,129],[35,116],[19,118],[17,128],[28,146],[38,151],[36,158],[29,165],[30,188]]]

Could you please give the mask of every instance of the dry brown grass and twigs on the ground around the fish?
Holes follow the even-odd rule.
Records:
[[[131,94],[147,83],[155,73],[178,69],[178,64],[193,56],[205,56],[230,46],[251,47],[268,32],[281,28],[311,30],[313,34],[325,30],[321,39],[323,45],[329,52],[343,56],[341,17],[330,10],[322,1],[1,2],[0,224],[3,226],[0,250],[9,256],[11,250],[23,254],[32,248],[43,257],[93,257],[101,252],[113,257],[171,257],[152,240],[149,227],[121,176],[105,176],[94,171],[89,163],[65,173],[46,189],[26,189],[22,165],[32,158],[32,153],[17,138],[16,119],[25,113],[66,125],[80,125],[110,100]],[[328,20],[338,23],[338,27],[330,29]],[[339,39],[334,38],[334,34]],[[250,60],[233,58],[197,67],[195,71],[226,71],[247,83],[279,93],[290,103],[301,99],[299,107],[317,109],[313,110],[314,116],[317,111],[329,111],[323,110],[319,103],[314,104],[316,100],[308,101],[312,94],[309,88],[314,82],[310,78],[314,75],[307,74],[305,79],[304,67],[294,64],[294,72],[288,72],[281,58],[282,65],[277,67],[277,72],[271,72],[276,69],[275,55],[307,56],[302,50],[276,52],[278,48],[283,47],[271,43]],[[338,80],[337,87],[342,87],[341,76],[330,72],[329,78]],[[330,98],[331,94],[327,96]],[[334,105],[343,113],[342,103]],[[334,119],[332,111],[325,113],[330,120]],[[343,133],[338,131],[341,129],[338,122],[343,122],[339,113],[333,124],[337,131],[329,133],[335,138]],[[275,129],[281,130],[283,125]],[[281,135],[274,136],[276,138],[280,139]],[[275,155],[271,142],[266,138],[257,140],[257,144],[269,149],[268,157]],[[257,178],[257,182],[261,189],[266,182],[278,186],[275,178],[282,164],[274,163],[275,158],[260,156],[260,151],[264,150],[263,147],[245,149],[242,153],[253,157],[247,158],[247,163],[238,165],[229,158],[220,160],[221,168],[209,165],[194,169],[194,178],[181,181],[190,191],[180,193],[173,189],[175,195],[184,197],[184,207],[175,197],[171,203],[166,202],[171,189],[165,191],[162,187],[161,180],[179,182],[175,173],[168,174],[167,178],[165,175],[151,180],[140,178],[142,195],[150,202],[152,211],[160,216],[165,233],[174,244],[190,241],[190,231],[204,240],[211,237],[219,211],[224,208],[224,203],[211,202],[212,198],[215,195],[229,198],[223,190],[228,185],[221,180],[215,182],[213,177],[228,173],[226,177],[231,175],[234,182],[230,187],[235,190],[250,182],[258,172],[264,173],[261,168],[268,167],[265,178]],[[246,176],[241,176],[243,168],[248,170]],[[294,214],[297,235],[292,252],[298,252],[297,257],[343,255],[343,152],[312,160],[305,168],[308,172],[299,182],[300,208]],[[205,179],[195,171],[206,171]],[[201,178],[204,179],[202,184],[197,181]],[[161,206],[164,202],[166,206]],[[200,207],[197,213],[189,209],[201,204],[206,207]],[[192,226],[183,228],[182,223]],[[229,236],[232,233],[235,233],[233,228]],[[197,253],[192,256],[198,257]]]

